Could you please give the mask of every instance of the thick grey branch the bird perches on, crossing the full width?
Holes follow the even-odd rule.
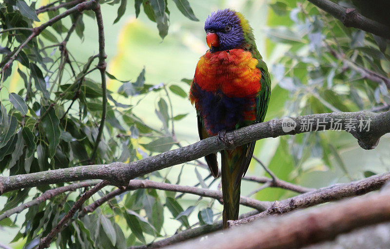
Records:
[[[358,120],[360,119],[365,122],[370,120],[369,131],[364,129],[361,131],[359,130]],[[337,129],[334,121],[340,121],[339,124],[342,124],[342,129],[349,131],[355,138],[358,139],[359,145],[365,149],[373,149],[378,144],[379,138],[390,132],[390,111],[380,114],[366,111],[333,112],[312,114],[297,118],[292,117],[271,120],[226,133],[223,141],[219,138],[219,136],[215,136],[185,147],[131,163],[114,162],[102,165],[86,165],[25,175],[1,177],[0,194],[15,189],[35,187],[43,184],[88,179],[103,179],[110,181],[111,184],[123,186],[127,185],[130,179],[134,179],[176,164],[195,160],[224,149],[232,149],[236,146],[259,139],[308,132],[310,130],[304,129],[308,120],[321,122],[323,127],[319,130]],[[351,120],[356,120],[357,124],[353,125],[351,130],[349,130],[347,125],[351,122]],[[286,124],[287,121],[296,124],[296,126],[292,129],[292,131],[284,132],[282,124]],[[315,130],[315,125],[313,125],[313,129]]]

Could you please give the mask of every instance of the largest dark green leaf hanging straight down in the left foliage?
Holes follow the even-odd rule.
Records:
[[[48,108],[50,109],[48,110]],[[59,119],[53,107],[42,106],[40,109],[40,115],[44,115],[45,112],[47,113],[42,118],[42,125],[46,131],[46,138],[49,141],[50,157],[53,158],[59,144],[59,137],[61,136],[61,131],[59,130]]]

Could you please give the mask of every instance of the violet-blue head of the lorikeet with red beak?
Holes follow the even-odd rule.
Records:
[[[246,32],[252,32],[244,16],[230,9],[213,12],[206,19],[204,30],[211,52],[234,49],[244,42]]]

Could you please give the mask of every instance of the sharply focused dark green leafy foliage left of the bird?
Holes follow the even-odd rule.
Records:
[[[70,2],[63,1],[59,4]],[[127,1],[114,0],[106,3],[119,6],[114,21],[116,23],[123,17]],[[186,0],[175,3],[186,17],[197,20]],[[146,15],[157,23],[160,36],[162,38],[166,36],[169,26],[167,2],[136,0],[137,16],[140,5],[143,5]],[[58,4],[54,2],[48,7],[53,6]],[[65,5],[65,9],[70,7],[73,5]],[[6,0],[1,4],[1,28],[4,32],[1,34],[1,43],[5,45],[1,47],[1,67],[18,50],[18,45],[30,36],[32,28],[39,26],[40,19],[54,18],[61,12],[63,8],[43,11],[38,18],[37,14],[40,11],[36,8],[35,2],[28,5],[24,0]],[[51,27],[46,28],[20,50],[16,57],[16,61],[19,62],[17,71],[13,72],[16,70],[15,67],[9,67],[4,71],[2,83],[12,73],[19,73],[24,80],[24,88],[19,92],[9,92],[6,99],[2,94],[0,171],[3,174],[34,173],[88,163],[134,161],[154,152],[167,151],[175,145],[176,140],[168,128],[174,120],[184,117],[185,114],[178,115],[175,119],[172,117],[166,102],[169,98],[166,89],[171,89],[181,97],[186,97],[187,94],[178,85],[154,86],[146,83],[144,69],[139,73],[136,81],[119,81],[121,86],[117,92],[108,91],[103,136],[96,158],[91,158],[103,111],[102,98],[105,97],[101,83],[94,77],[89,77],[89,74],[97,69],[97,56],[92,55],[87,61],[79,61],[66,47],[67,41],[74,33],[84,38],[83,19],[94,17],[88,11],[85,14],[71,15],[72,26],[67,26],[64,19],[59,19]],[[55,48],[55,50],[49,54],[46,52],[47,48]],[[16,61],[14,64],[17,63]],[[117,80],[108,72],[106,75],[110,79]],[[7,89],[3,88],[1,92],[5,91]],[[133,112],[140,100],[148,98],[151,92],[165,95],[160,98],[156,108],[156,116],[161,120],[160,128],[146,124]],[[134,103],[129,104],[131,102]],[[161,178],[158,174],[157,176]],[[57,186],[61,185],[63,184]],[[29,195],[37,197],[49,188],[49,186],[40,186],[37,190],[23,189],[5,194],[8,201],[0,213],[25,202]],[[74,204],[74,197],[63,194],[30,208],[25,215],[22,229],[13,241],[23,239],[25,248],[34,248],[38,245],[39,238],[46,236],[69,211]],[[59,233],[57,246],[120,249],[134,244],[145,244],[147,241],[145,234],[153,237],[162,236],[160,232],[166,207],[182,210],[175,199],[165,203],[156,191],[142,190],[127,193],[120,198],[110,200],[109,203],[112,207],[111,211],[98,209],[95,213],[72,221]],[[118,217],[126,223],[122,222],[118,225],[115,222]],[[15,225],[7,218],[2,221],[1,226]],[[188,221],[186,226],[189,226]],[[128,235],[126,236],[128,239],[124,234]]]

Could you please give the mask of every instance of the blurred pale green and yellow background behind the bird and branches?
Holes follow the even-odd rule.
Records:
[[[135,18],[133,1],[128,1],[124,16],[113,24],[117,17],[117,5],[102,5],[104,20],[107,71],[120,80],[137,79],[145,69],[147,84],[175,84],[186,92],[189,85],[181,79],[191,79],[198,58],[208,49],[203,29],[204,20],[212,11],[232,8],[244,14],[254,28],[254,36],[259,52],[268,64],[272,75],[272,95],[266,121],[285,116],[297,116],[311,113],[369,110],[390,104],[389,93],[383,84],[372,83],[361,77],[353,68],[345,68],[344,59],[332,57],[330,49],[344,53],[348,60],[370,70],[389,77],[389,46],[380,48],[380,42],[370,34],[346,29],[329,15],[318,11],[307,1],[273,0],[189,0],[195,16],[200,20],[192,21],[184,17],[173,1],[170,4],[170,26],[168,35],[161,39],[156,23],[150,21],[141,11]],[[40,1],[40,5],[46,4]],[[306,13],[305,13],[306,12]],[[39,15],[41,22],[47,16]],[[69,26],[70,21],[63,21]],[[84,18],[84,39],[72,36],[68,50],[79,61],[86,61],[91,54],[98,52],[98,37],[95,20]],[[388,44],[388,42],[385,42]],[[51,53],[54,49],[48,49]],[[58,53],[58,51],[54,51]],[[378,55],[379,54],[379,55]],[[376,56],[375,56],[376,55]],[[379,56],[379,57],[378,57]],[[14,63],[14,67],[17,66]],[[90,75],[99,81],[98,71]],[[109,90],[116,92],[121,82],[108,79]],[[13,73],[1,89],[1,99],[9,92],[18,92],[24,88],[19,74]],[[182,145],[198,141],[195,108],[187,98],[170,94],[173,103],[173,116],[188,115],[175,122],[176,138]],[[157,102],[165,98],[163,91],[152,92],[145,98],[123,98],[123,104],[135,104],[141,101],[134,112],[146,124],[159,129],[161,122],[156,115]],[[167,100],[167,99],[166,99]],[[143,143],[139,140],[137,143]],[[174,146],[175,147],[175,146]],[[346,132],[326,131],[305,133],[296,136],[268,138],[256,143],[254,155],[262,160],[277,177],[305,187],[319,188],[337,182],[347,182],[389,171],[390,136],[382,137],[374,150],[366,151],[359,147],[356,139]],[[203,159],[202,159],[203,160]],[[160,174],[175,183],[183,165],[176,165]],[[198,168],[205,178],[209,172]],[[5,173],[6,175],[6,173]],[[252,161],[247,175],[266,175],[261,166]],[[153,176],[151,177],[153,179]],[[186,164],[183,168],[180,184],[195,185],[199,182],[195,166]],[[210,183],[207,180],[206,183]],[[218,181],[211,189],[218,189]],[[246,196],[259,187],[259,184],[243,181],[242,195]],[[281,189],[264,189],[254,198],[259,200],[278,200],[294,195]],[[33,196],[33,195],[31,195]],[[194,204],[197,196],[185,195],[179,203],[184,210]],[[6,199],[0,197],[0,207]],[[214,213],[222,211],[216,202],[212,205]],[[209,199],[203,199],[196,206],[196,212],[189,217],[190,223],[197,221],[197,211],[211,206]],[[104,207],[103,207],[104,209]],[[240,213],[250,211],[241,206]],[[17,225],[24,221],[24,213],[19,214]],[[175,233],[179,222],[165,210],[164,231]],[[123,221],[117,221],[125,226]],[[0,232],[0,241],[7,244],[12,240],[18,228],[6,228]],[[151,241],[151,237],[147,237]],[[12,244],[21,248],[22,242]]]

